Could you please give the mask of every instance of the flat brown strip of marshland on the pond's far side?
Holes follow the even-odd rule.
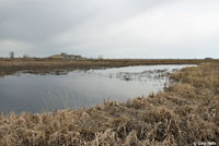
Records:
[[[58,59],[0,59],[0,76],[14,74],[18,71],[30,73],[50,73],[57,74],[61,71],[88,70],[100,68],[118,68],[128,65],[152,65],[152,64],[198,64],[201,62],[215,62],[218,60],[180,60],[180,59],[104,59],[104,60],[81,60],[64,61]]]

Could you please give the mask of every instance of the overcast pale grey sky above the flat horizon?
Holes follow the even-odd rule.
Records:
[[[0,57],[219,58],[219,0],[0,0]]]

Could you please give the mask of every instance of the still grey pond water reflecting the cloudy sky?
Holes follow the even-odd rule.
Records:
[[[0,77],[0,112],[43,112],[127,101],[169,84],[168,73],[191,65],[141,65],[72,71],[64,75],[18,73]]]

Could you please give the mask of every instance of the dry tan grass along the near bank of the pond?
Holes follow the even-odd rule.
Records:
[[[219,62],[171,74],[149,97],[91,108],[0,115],[1,146],[219,145]]]

